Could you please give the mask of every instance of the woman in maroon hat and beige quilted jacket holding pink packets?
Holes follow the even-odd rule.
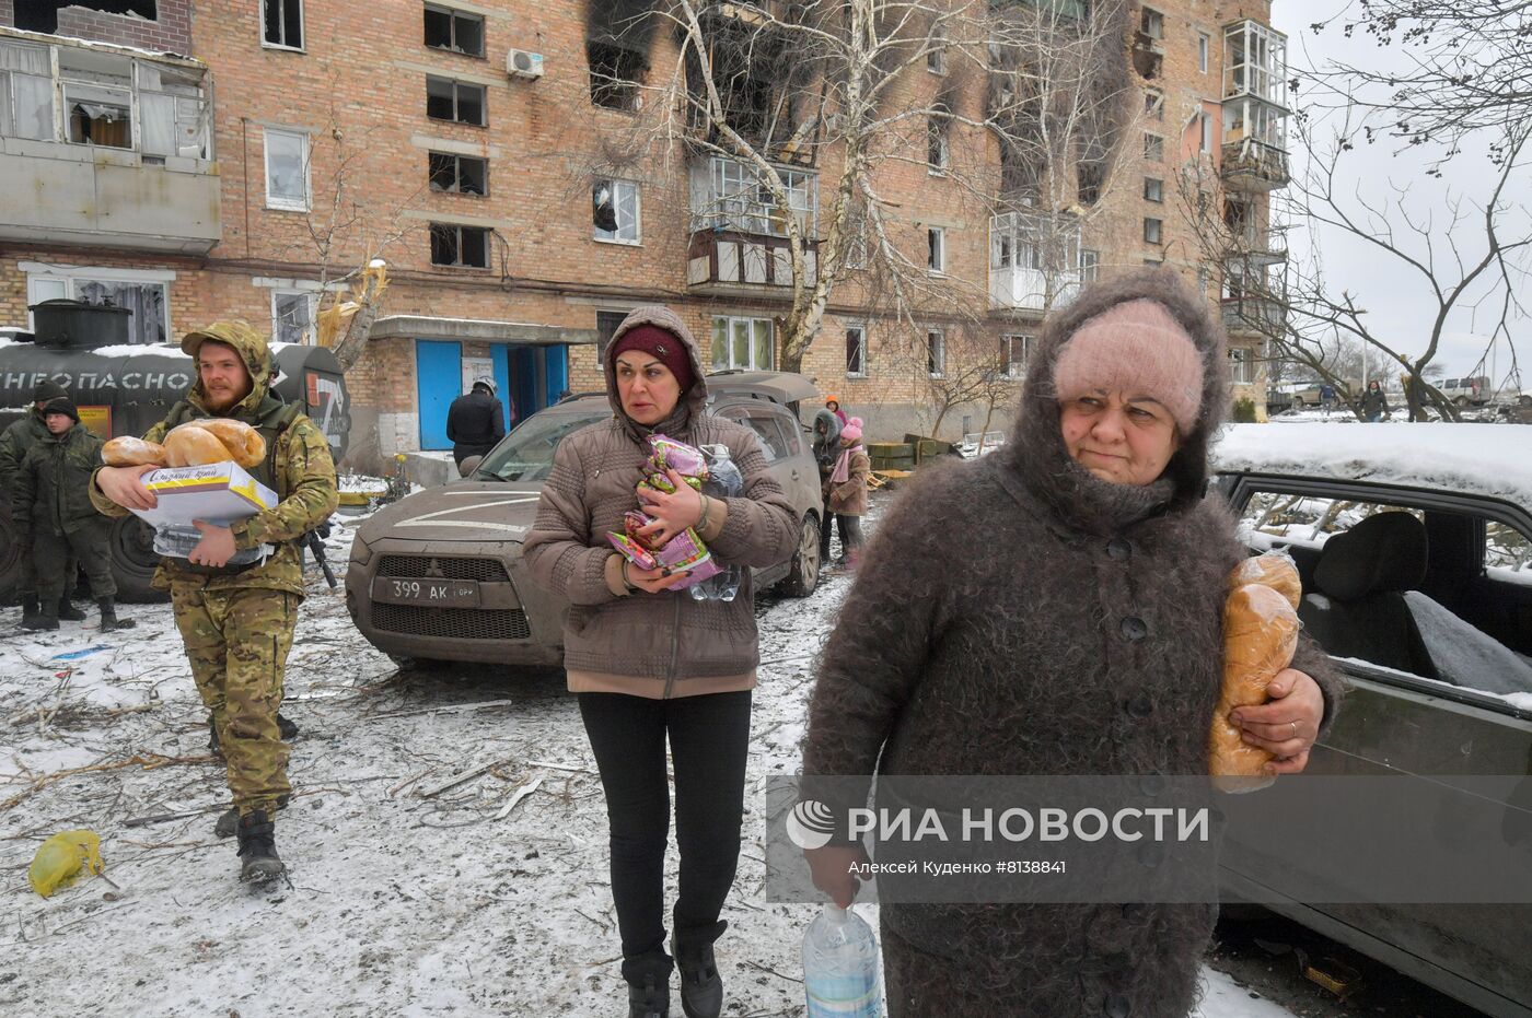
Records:
[[[692,527],[722,563],[764,568],[797,550],[798,522],[755,433],[705,412],[697,343],[669,309],[633,311],[607,347],[605,374],[613,416],[559,442],[524,556],[538,583],[570,603],[564,667],[607,793],[630,1015],[669,1013],[674,964],[688,1018],[719,1015],[712,943],[740,853],[760,663],[749,569],[732,602],[694,600],[671,589],[680,576],[616,554],[607,533],[622,533],[624,513],[642,508],[657,520],[657,543]],[[674,494],[645,488],[640,504],[650,435],[728,445],[745,493],[717,499],[679,484]],[[665,951],[666,741],[680,848],[674,961]]]

